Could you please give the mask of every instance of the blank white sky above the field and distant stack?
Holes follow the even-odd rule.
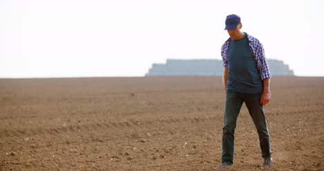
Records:
[[[324,76],[323,9],[321,0],[0,0],[0,78],[143,76],[168,58],[221,60],[233,13],[268,59]]]

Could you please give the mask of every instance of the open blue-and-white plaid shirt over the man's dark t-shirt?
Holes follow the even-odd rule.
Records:
[[[261,79],[264,80],[267,78],[271,78],[269,65],[268,65],[267,60],[265,59],[264,49],[263,49],[261,42],[258,39],[255,39],[254,37],[252,37],[251,35],[247,35],[247,37],[249,39],[249,46],[251,49],[251,53],[252,53],[253,58],[257,64],[258,70],[260,72]],[[228,50],[228,46],[229,46],[230,42],[231,42],[231,38],[228,38],[222,46],[222,58],[223,58],[223,62],[224,62],[223,66],[226,66],[226,67],[228,66],[227,50]]]

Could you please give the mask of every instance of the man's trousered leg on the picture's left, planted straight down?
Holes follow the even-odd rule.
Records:
[[[227,91],[222,138],[222,163],[233,164],[234,133],[242,104],[243,100],[240,98],[240,93]]]

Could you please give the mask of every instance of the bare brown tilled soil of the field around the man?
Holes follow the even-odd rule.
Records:
[[[215,170],[222,78],[0,80],[0,170]],[[322,170],[324,78],[271,80],[265,107],[274,166]],[[244,106],[231,170],[260,170]]]

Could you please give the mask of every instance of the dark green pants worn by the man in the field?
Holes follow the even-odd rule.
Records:
[[[222,139],[222,163],[228,162],[233,164],[236,120],[243,102],[245,102],[247,109],[249,109],[250,116],[258,131],[262,157],[267,158],[271,156],[269,132],[263,107],[260,105],[260,99],[261,93],[227,91]]]

